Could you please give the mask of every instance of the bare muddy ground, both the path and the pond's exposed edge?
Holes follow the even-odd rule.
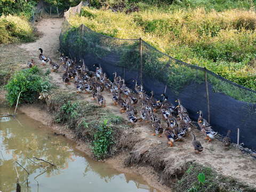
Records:
[[[0,51],[5,50],[6,57],[13,57],[15,60],[15,52],[22,53],[24,60],[34,58],[36,65],[43,70],[50,69],[50,66],[46,64],[41,66],[38,59],[38,48],[41,47],[44,50],[44,55],[51,57],[53,61],[59,62],[58,52],[59,49],[59,34],[61,30],[61,22],[63,19],[43,19],[36,23],[38,32],[42,33],[34,43],[19,44],[17,46],[8,45],[4,49],[0,47]],[[12,50],[13,54],[9,55],[8,50]],[[3,55],[3,54],[2,54]],[[19,68],[25,68],[26,62],[19,62]],[[114,72],[114,71],[113,71]],[[58,86],[59,91],[76,92],[74,83],[71,85],[64,85],[62,82],[63,67],[59,70],[50,74],[51,80],[54,85]],[[4,94],[2,92],[2,94]],[[125,114],[120,113],[120,109],[114,106],[111,100],[110,92],[103,91],[103,97],[106,98],[106,108],[112,111],[114,114],[122,116],[126,119]],[[81,100],[89,101],[90,103],[97,104],[92,100],[91,94],[81,93]],[[140,110],[140,102],[137,105]],[[186,106],[185,106],[186,107]],[[47,111],[46,106],[34,106],[34,105],[23,105],[19,107],[19,110],[26,113],[31,118],[41,121],[43,124],[53,127],[53,129],[65,133],[68,138],[76,140],[78,142],[77,148],[84,151],[86,154],[92,156],[89,147],[86,143],[77,140],[74,133],[56,125],[52,121],[53,115],[50,111]],[[158,117],[161,118],[161,114],[157,113]],[[166,125],[162,124],[163,127]],[[120,152],[117,156],[107,159],[107,163],[113,165],[117,170],[124,172],[135,172],[142,175],[142,177],[148,181],[149,185],[161,190],[161,191],[172,191],[165,185],[162,185],[164,180],[164,173],[168,173],[170,176],[172,173],[179,172],[179,167],[182,167],[186,162],[196,162],[204,166],[212,167],[213,170],[223,175],[233,177],[238,181],[245,182],[250,186],[256,187],[256,161],[252,157],[252,154],[245,154],[234,144],[231,145],[230,149],[225,149],[223,143],[217,139],[213,139],[211,142],[204,140],[204,135],[197,129],[193,129],[192,132],[196,135],[197,140],[201,141],[204,150],[202,153],[196,154],[191,145],[191,136],[187,136],[184,141],[178,141],[174,143],[173,147],[169,147],[167,139],[165,137],[158,138],[151,135],[153,130],[149,123],[137,122],[131,130],[126,131],[125,137],[121,138],[123,141],[133,141],[133,143],[125,143],[124,147],[126,151]],[[132,133],[135,133],[135,138],[130,140],[130,137],[134,137]],[[163,135],[164,136],[164,135]],[[129,146],[127,146],[129,145]],[[136,153],[134,153],[136,152]],[[129,154],[142,154],[139,155],[139,159],[133,159],[133,164],[126,167],[124,161]],[[255,156],[255,154],[254,154]],[[139,161],[140,160],[140,161]],[[138,163],[138,165],[136,165]],[[161,167],[161,169],[160,169]],[[182,168],[181,168],[182,169]],[[156,170],[161,170],[162,175],[157,173]],[[161,176],[160,178],[158,176]],[[167,176],[166,176],[167,177]]]

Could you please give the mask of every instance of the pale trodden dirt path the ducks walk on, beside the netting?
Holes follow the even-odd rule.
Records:
[[[23,44],[20,45],[20,48],[28,51],[30,54],[28,57],[34,57],[38,66],[43,69],[50,69],[49,65],[41,66],[41,63],[38,59],[38,48],[41,47],[44,50],[46,56],[52,57],[54,61],[58,61],[58,48],[59,48],[59,34],[61,30],[62,19],[45,19],[37,23],[38,31],[43,32],[43,36],[38,39],[35,43]],[[113,71],[114,72],[114,71]],[[54,84],[59,86],[59,89],[63,91],[76,92],[76,88],[73,83],[71,85],[64,85],[62,82],[62,73],[63,67],[55,72],[51,73],[50,76]],[[125,114],[120,114],[118,107],[114,106],[113,101],[111,100],[110,93],[108,91],[102,92],[103,97],[106,98],[107,109],[111,110],[117,115],[121,115],[126,118]],[[81,98],[87,100],[91,103],[96,102],[92,100],[92,95],[81,93]],[[138,103],[137,108],[140,110],[140,103]],[[185,106],[186,107],[186,106]],[[33,118],[38,119],[39,121],[45,121],[46,119],[37,118],[37,115],[41,115],[40,111],[31,111],[26,109],[26,107],[20,108],[22,111],[25,111]],[[157,113],[158,117],[161,117],[161,114]],[[139,115],[140,116],[140,115]],[[162,119],[162,118],[161,118]],[[163,124],[163,127],[166,125]],[[206,142],[204,140],[204,135],[201,134],[197,129],[193,129],[197,140],[201,141],[204,150],[200,154],[196,154],[191,146],[191,137],[188,136],[184,141],[175,142],[174,147],[169,147],[167,144],[167,139],[165,137],[158,138],[151,135],[152,130],[151,126],[147,123],[138,122],[134,126],[134,130],[138,131],[138,137],[141,138],[141,141],[136,143],[133,151],[141,148],[148,147],[149,150],[154,150],[161,152],[161,158],[165,162],[169,162],[169,167],[167,169],[176,169],[185,162],[197,162],[205,166],[210,166],[214,170],[223,175],[231,176],[239,181],[248,183],[251,186],[256,187],[256,161],[250,155],[242,153],[235,145],[232,145],[230,149],[224,149],[223,143],[217,139],[214,139],[212,142]],[[113,161],[110,159],[109,162]],[[114,160],[115,161],[115,160]],[[113,163],[114,164],[114,163]],[[122,165],[116,164],[115,167],[121,169]],[[142,170],[142,169],[141,169]],[[139,170],[137,170],[139,171]],[[146,171],[141,171],[143,174]],[[148,179],[150,180],[150,179]]]

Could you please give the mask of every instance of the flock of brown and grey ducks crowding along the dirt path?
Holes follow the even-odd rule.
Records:
[[[50,66],[52,66],[52,71],[57,70],[60,65],[52,60],[49,57],[43,55],[43,50],[38,49],[39,60],[41,60],[42,65],[48,61]],[[95,71],[89,70],[84,63],[84,60],[77,62],[76,59],[66,57],[61,53],[60,50],[60,62],[63,65],[65,71],[62,75],[63,82],[65,84],[70,84],[70,79],[75,79],[75,86],[77,92],[85,91],[87,94],[92,94],[93,99],[95,99],[99,106],[106,107],[106,99],[103,97],[101,92],[106,89],[111,92],[111,98],[114,102],[114,105],[119,106],[121,113],[126,113],[127,119],[130,121],[130,125],[138,122],[138,110],[135,108],[135,105],[138,104],[138,99],[141,99],[141,109],[140,120],[148,123],[150,121],[151,127],[153,128],[154,133],[152,135],[158,135],[162,137],[164,133],[170,144],[170,147],[173,146],[173,142],[178,140],[183,140],[186,135],[189,135],[191,132],[191,119],[189,118],[187,109],[181,104],[179,99],[178,106],[174,106],[170,101],[167,100],[167,95],[162,94],[164,97],[163,100],[156,100],[154,98],[154,91],[151,91],[151,96],[149,96],[144,90],[142,85],[138,85],[136,79],[134,79],[134,90],[133,92],[130,87],[125,85],[125,81],[121,76],[115,74],[114,81],[111,82],[107,77],[106,73],[103,73],[103,70],[100,65],[94,65],[96,67]],[[33,59],[28,60],[28,67],[33,67],[35,62]],[[121,98],[121,94],[124,94],[124,99]],[[166,124],[165,129],[161,125],[160,119],[154,114],[157,110],[161,111],[164,124]],[[212,130],[212,126],[203,118],[203,113],[201,110],[197,112],[199,114],[197,124],[201,128],[201,133],[205,135],[207,141],[211,141],[217,132]],[[179,122],[179,123],[178,123]],[[225,148],[230,146],[229,130],[227,136],[223,138],[223,143]],[[201,142],[196,140],[195,135],[191,133],[193,140],[192,145],[194,150],[199,153],[203,150]]]

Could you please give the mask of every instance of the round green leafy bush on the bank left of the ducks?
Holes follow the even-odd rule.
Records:
[[[6,99],[10,106],[17,102],[20,92],[19,103],[33,102],[40,92],[46,92],[50,87],[49,78],[43,76],[41,70],[36,66],[17,71],[4,86],[8,92]]]

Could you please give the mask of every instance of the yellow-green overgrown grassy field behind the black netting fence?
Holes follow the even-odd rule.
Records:
[[[189,1],[175,1],[171,5],[156,3],[156,6],[134,2],[132,6],[138,6],[139,12],[126,14],[127,6],[123,11],[113,12],[113,9],[106,9],[111,7],[111,2],[109,5],[105,2],[105,7],[100,9],[84,7],[81,15],[70,18],[69,22],[75,27],[84,23],[111,37],[142,37],[176,59],[206,67],[230,81],[256,90],[254,2],[207,1],[200,4],[190,1],[189,4]]]

